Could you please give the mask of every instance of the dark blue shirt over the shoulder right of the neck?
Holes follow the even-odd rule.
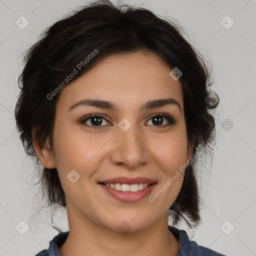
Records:
[[[180,248],[177,256],[225,256],[190,240],[185,230],[179,230],[174,226],[168,226],[168,229],[179,239]]]

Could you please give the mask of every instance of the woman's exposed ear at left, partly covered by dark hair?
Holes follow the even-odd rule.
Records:
[[[43,167],[52,169],[55,168],[53,155],[49,150],[49,140],[47,139],[43,147],[41,147],[38,137],[35,136],[36,128],[32,130],[33,147]]]

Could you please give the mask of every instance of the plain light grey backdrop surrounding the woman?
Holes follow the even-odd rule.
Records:
[[[194,236],[190,231],[188,234],[198,244],[226,255],[256,255],[256,1],[123,2],[144,3],[144,7],[159,15],[176,18],[196,49],[211,59],[213,88],[220,97],[217,141],[211,171],[207,161],[205,168],[198,170],[204,199],[202,224]],[[48,248],[49,240],[57,234],[47,224],[46,213],[39,212],[42,214],[40,225],[33,222],[35,187],[31,183],[36,179],[32,179],[33,163],[25,156],[15,131],[13,110],[19,91],[17,77],[22,69],[22,52],[37,40],[47,25],[70,8],[84,3],[86,1],[0,0],[0,256],[34,255]],[[29,21],[24,29],[15,24],[21,15]],[[226,15],[234,21],[228,29],[221,24]],[[228,19],[222,22],[225,26],[231,24]],[[55,220],[68,230],[64,211],[56,214]],[[20,221],[30,226],[24,234],[20,232],[25,231],[26,224]],[[232,226],[234,229],[230,232]],[[186,229],[186,226],[181,224],[179,228]]]

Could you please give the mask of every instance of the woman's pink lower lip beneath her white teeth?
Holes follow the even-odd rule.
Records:
[[[130,192],[130,191],[119,191],[114,188],[105,186],[101,183],[98,183],[98,184],[102,188],[104,188],[110,195],[112,195],[116,199],[118,199],[120,201],[124,201],[124,202],[134,202],[134,201],[141,200],[142,198],[147,196],[152,191],[154,186],[156,185],[156,183],[153,183],[152,185],[150,185],[146,188],[143,188],[142,190],[138,190],[137,192]]]

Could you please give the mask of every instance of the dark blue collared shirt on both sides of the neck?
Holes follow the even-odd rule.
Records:
[[[198,245],[189,240],[185,230],[179,230],[174,226],[168,226],[174,236],[179,239],[180,248],[177,256],[225,256],[214,250]],[[60,247],[68,236],[69,231],[58,233],[49,243],[49,248],[37,253],[35,256],[61,256],[57,247]]]

